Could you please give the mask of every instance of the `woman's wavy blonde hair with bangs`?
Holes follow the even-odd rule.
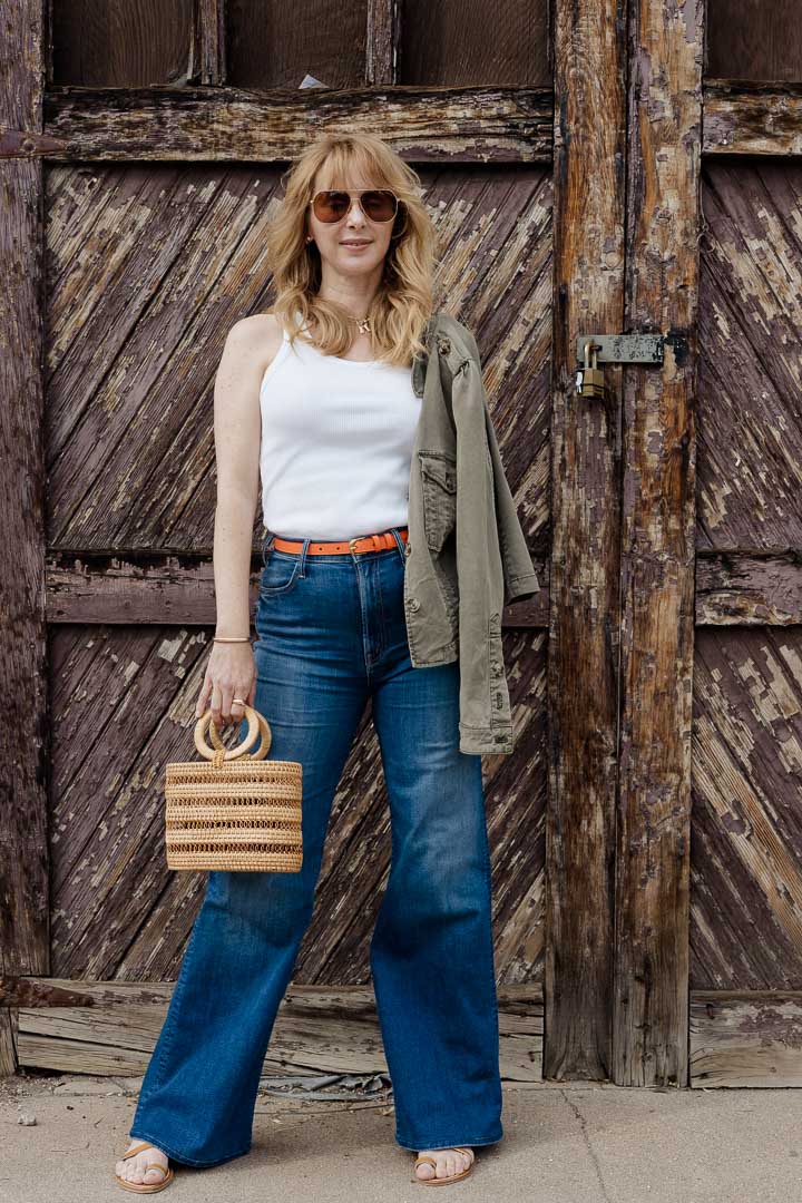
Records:
[[[267,231],[275,286],[271,312],[291,342],[314,342],[326,355],[343,355],[350,346],[354,320],[339,302],[319,296],[320,251],[304,239],[309,201],[321,188],[315,177],[321,172],[322,186],[343,186],[351,168],[372,186],[391,189],[399,200],[381,283],[367,315],[375,357],[408,366],[426,349],[422,334],[434,312],[435,227],[417,173],[373,134],[322,134],[281,177],[286,179],[284,202]],[[314,324],[314,340],[299,332],[305,322]]]

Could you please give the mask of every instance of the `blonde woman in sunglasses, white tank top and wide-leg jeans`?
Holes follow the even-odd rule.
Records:
[[[404,616],[421,404],[410,377],[433,312],[434,242],[409,165],[378,137],[323,136],[293,165],[271,227],[274,308],[238,321],[225,344],[218,622],[196,715],[210,707],[219,727],[244,733],[248,703],[271,723],[271,755],[302,763],[303,869],[209,872],[117,1162],[130,1190],[164,1189],[170,1160],[214,1166],[250,1150],[273,1021],[368,699],[393,836],[370,967],[396,1139],[418,1154],[416,1179],[439,1185],[503,1136],[481,757],[458,749],[458,664],[412,666]],[[271,533],[254,648],[260,478]]]

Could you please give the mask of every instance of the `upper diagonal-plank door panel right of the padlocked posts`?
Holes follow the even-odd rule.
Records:
[[[802,162],[701,180],[696,550],[802,547]]]

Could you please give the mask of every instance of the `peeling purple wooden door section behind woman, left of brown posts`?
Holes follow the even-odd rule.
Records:
[[[420,172],[436,285],[476,333],[541,571],[547,561],[546,14],[410,2],[402,19],[372,0],[307,17],[298,30],[272,0],[103,14],[54,2],[49,59],[38,10],[10,18],[25,103],[10,109],[1,168],[18,707],[0,819],[5,1068],[141,1073],[161,1026],[206,881],[166,867],[162,790],[165,764],[191,752],[215,618],[214,375],[233,322],[269,307],[266,224],[319,130],[379,130]],[[260,509],[254,605],[261,534]],[[524,1081],[540,1077],[542,1027],[545,597],[505,615],[518,749],[486,760],[503,1072]],[[388,865],[368,707],[266,1072],[386,1071],[368,950]]]

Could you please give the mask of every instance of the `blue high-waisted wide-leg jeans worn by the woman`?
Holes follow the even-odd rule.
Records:
[[[396,1139],[415,1151],[501,1139],[481,757],[458,748],[458,664],[410,662],[404,543],[393,535],[390,549],[331,556],[309,556],[309,539],[279,551],[267,535],[255,706],[273,733],[268,757],[303,766],[303,867],[208,872],[131,1127],[179,1163],[214,1166],[251,1148],[273,1021],[368,698],[392,830],[370,970]]]

